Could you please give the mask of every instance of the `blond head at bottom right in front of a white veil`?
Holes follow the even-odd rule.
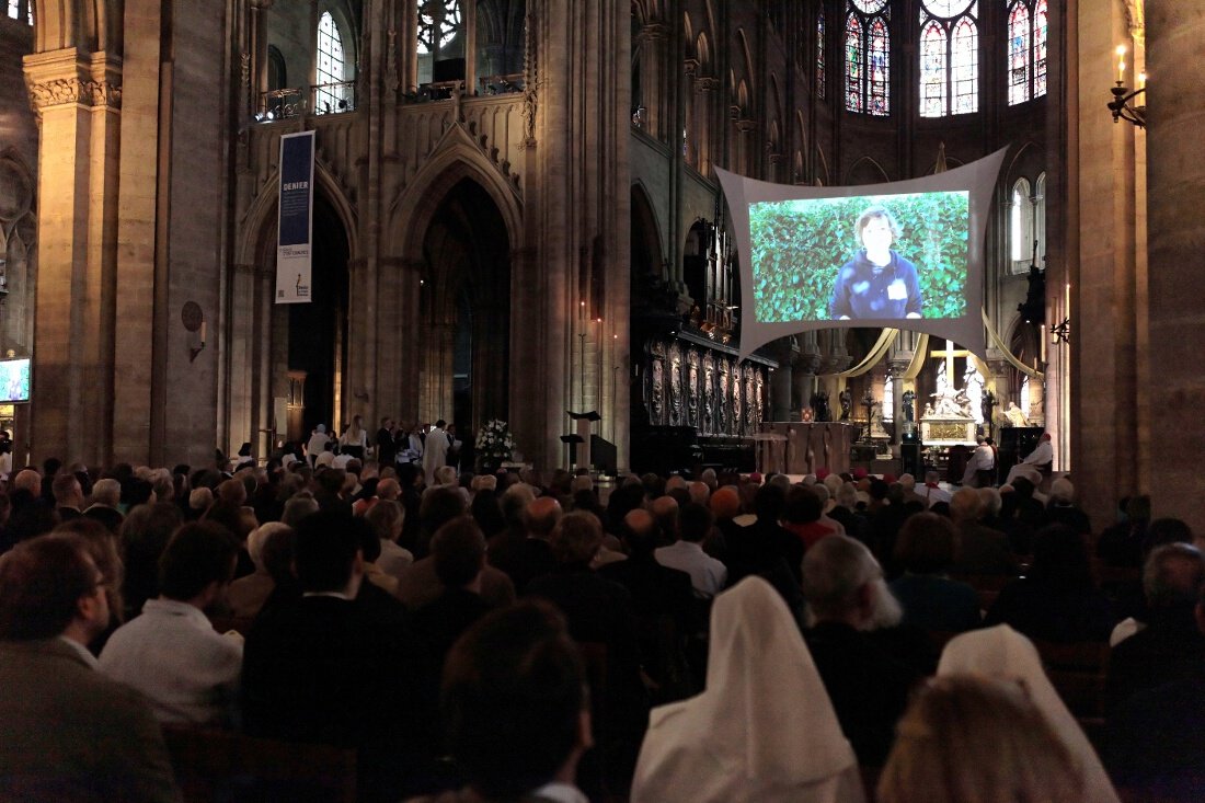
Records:
[[[1017,684],[931,679],[897,726],[881,803],[1083,803],[1075,758]]]

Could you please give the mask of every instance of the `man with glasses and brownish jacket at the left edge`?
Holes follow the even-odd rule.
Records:
[[[151,708],[87,650],[108,626],[104,586],[76,537],[0,559],[0,799],[181,799]]]

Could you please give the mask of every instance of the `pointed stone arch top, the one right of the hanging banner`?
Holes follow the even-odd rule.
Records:
[[[523,242],[523,210],[518,189],[507,183],[481,148],[457,123],[445,133],[413,180],[398,193],[386,212],[384,253],[421,260],[423,236],[440,201],[459,183],[471,178],[498,207],[511,248]]]

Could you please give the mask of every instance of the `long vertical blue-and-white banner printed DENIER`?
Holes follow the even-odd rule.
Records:
[[[313,131],[281,137],[276,303],[308,304],[313,258]]]

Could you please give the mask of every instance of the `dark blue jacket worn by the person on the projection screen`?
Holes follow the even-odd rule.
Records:
[[[829,317],[903,318],[923,313],[916,265],[892,251],[892,260],[882,270],[866,259],[862,248],[837,274],[829,299]]]

